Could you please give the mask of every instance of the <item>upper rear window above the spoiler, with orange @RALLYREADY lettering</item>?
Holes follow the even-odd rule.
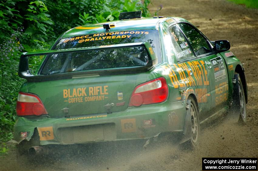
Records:
[[[63,38],[56,45],[55,49],[83,48],[93,46],[103,46],[110,44],[139,43],[148,41],[158,61],[161,61],[161,50],[158,30],[133,30],[104,32],[89,35],[80,35],[70,38]]]

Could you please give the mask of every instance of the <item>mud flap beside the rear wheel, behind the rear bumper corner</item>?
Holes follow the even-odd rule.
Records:
[[[187,100],[183,136],[181,137],[180,143],[183,143],[191,138],[192,123],[191,123],[190,106],[191,106],[191,100]]]

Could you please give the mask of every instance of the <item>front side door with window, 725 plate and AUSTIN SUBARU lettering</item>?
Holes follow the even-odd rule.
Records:
[[[207,76],[209,77],[211,109],[226,105],[229,92],[229,79],[226,71],[226,63],[219,53],[212,51],[213,45],[195,27],[189,23],[179,23],[185,37],[190,42],[197,61],[205,65]],[[215,109],[214,109],[215,110]]]

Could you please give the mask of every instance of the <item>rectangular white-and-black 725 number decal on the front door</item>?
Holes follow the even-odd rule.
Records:
[[[210,60],[214,69],[215,81],[222,80],[226,78],[226,71],[222,61],[222,58],[219,56]]]

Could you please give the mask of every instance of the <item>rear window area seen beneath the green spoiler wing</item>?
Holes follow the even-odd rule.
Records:
[[[94,49],[49,55],[41,74],[57,74],[121,67],[145,66],[149,61],[144,47]]]

